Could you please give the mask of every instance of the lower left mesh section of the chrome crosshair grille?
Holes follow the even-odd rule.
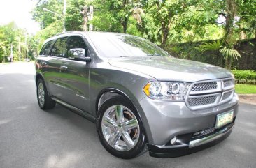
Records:
[[[217,96],[205,96],[198,98],[189,98],[187,101],[190,106],[201,106],[201,105],[209,105],[213,104],[216,101]]]

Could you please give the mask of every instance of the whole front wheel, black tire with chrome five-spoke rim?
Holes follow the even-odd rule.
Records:
[[[101,105],[97,114],[97,132],[106,151],[118,158],[135,158],[145,153],[143,124],[136,108],[122,96]]]

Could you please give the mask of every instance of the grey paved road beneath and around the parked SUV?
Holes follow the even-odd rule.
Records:
[[[39,109],[33,63],[0,65],[0,167],[256,167],[256,106],[239,109],[232,135],[212,148],[122,160],[101,146],[94,123],[59,105]]]

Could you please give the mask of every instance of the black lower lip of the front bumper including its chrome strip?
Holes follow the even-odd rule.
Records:
[[[190,141],[188,144],[183,143],[176,146],[158,146],[147,144],[148,151],[150,153],[150,156],[156,158],[173,158],[181,155],[188,155],[191,153],[195,153],[197,151],[201,151],[204,148],[208,148],[215,144],[218,144],[231,134],[233,127],[234,123],[231,123],[211,135],[199,139],[194,139]]]

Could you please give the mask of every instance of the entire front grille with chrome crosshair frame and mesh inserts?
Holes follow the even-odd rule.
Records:
[[[186,103],[192,110],[220,105],[232,100],[234,78],[197,82],[188,92]]]

